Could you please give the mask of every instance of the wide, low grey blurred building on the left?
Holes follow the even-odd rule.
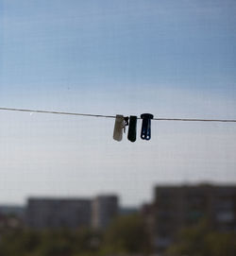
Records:
[[[77,229],[91,226],[91,200],[80,198],[29,198],[26,223],[32,229]]]

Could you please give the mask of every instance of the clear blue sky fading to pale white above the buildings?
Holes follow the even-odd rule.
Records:
[[[234,0],[0,0],[0,107],[236,119]],[[0,111],[0,203],[235,183],[236,125],[153,121],[149,142],[114,120]]]

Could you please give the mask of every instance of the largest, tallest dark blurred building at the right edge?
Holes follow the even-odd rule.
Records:
[[[236,231],[236,185],[157,186],[143,214],[158,252],[172,244],[179,230],[203,218],[212,230]]]

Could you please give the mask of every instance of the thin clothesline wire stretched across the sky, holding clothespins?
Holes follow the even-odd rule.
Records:
[[[93,114],[93,113],[78,113],[78,112],[64,112],[64,111],[40,111],[40,110],[28,110],[28,109],[9,109],[0,108],[0,111],[25,111],[25,112],[38,112],[38,113],[54,113],[54,114],[67,114],[67,115],[79,115],[79,116],[90,116],[90,117],[104,117],[104,118],[115,118],[115,115],[105,114]],[[141,119],[138,117],[138,119]],[[153,118],[155,121],[184,121],[184,122],[225,122],[225,123],[236,123],[236,119],[198,119],[198,118]]]

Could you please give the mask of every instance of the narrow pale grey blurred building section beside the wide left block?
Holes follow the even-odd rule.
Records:
[[[92,204],[92,226],[94,229],[104,229],[118,214],[117,196],[97,196]]]

